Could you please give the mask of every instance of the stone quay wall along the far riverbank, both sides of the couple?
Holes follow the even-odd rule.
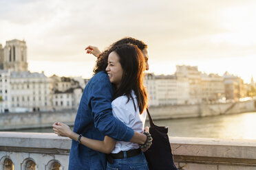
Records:
[[[226,104],[195,104],[177,106],[149,107],[151,117],[159,119],[180,119],[189,117],[209,117],[222,114],[238,114],[255,112],[256,101],[243,101]],[[0,130],[15,130],[22,128],[51,127],[54,121],[63,121],[74,125],[76,110],[63,112],[29,112],[0,114]]]

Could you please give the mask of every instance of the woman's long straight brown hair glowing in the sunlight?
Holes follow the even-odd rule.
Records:
[[[119,62],[123,70],[121,84],[120,87],[116,89],[114,99],[126,95],[128,98],[127,103],[129,99],[132,99],[136,110],[135,101],[131,96],[131,91],[134,90],[137,97],[138,108],[140,114],[142,114],[147,107],[147,91],[143,85],[145,77],[144,71],[146,69],[145,58],[136,45],[117,45],[109,49],[109,53],[111,53],[111,51],[115,51],[118,54]]]

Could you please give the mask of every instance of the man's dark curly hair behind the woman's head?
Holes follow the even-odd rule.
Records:
[[[112,48],[118,45],[125,45],[125,44],[136,45],[141,51],[143,49],[147,49],[147,45],[145,44],[145,42],[142,42],[141,40],[137,40],[131,37],[122,38],[114,42],[112,45],[110,45],[105,51],[103,51],[103,53],[100,53],[100,56],[94,66],[94,75],[100,71],[105,71],[105,69],[107,68],[107,59],[109,58],[109,53],[111,53],[109,52],[109,50],[111,50]]]

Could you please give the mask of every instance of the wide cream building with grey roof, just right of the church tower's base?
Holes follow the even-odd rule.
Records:
[[[50,80],[44,73],[10,73],[10,112],[52,110]]]

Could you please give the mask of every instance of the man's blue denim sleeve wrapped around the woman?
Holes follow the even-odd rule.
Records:
[[[113,90],[107,74],[100,74],[90,85],[89,100],[95,127],[117,141],[130,141],[134,130],[116,119],[111,112]]]

